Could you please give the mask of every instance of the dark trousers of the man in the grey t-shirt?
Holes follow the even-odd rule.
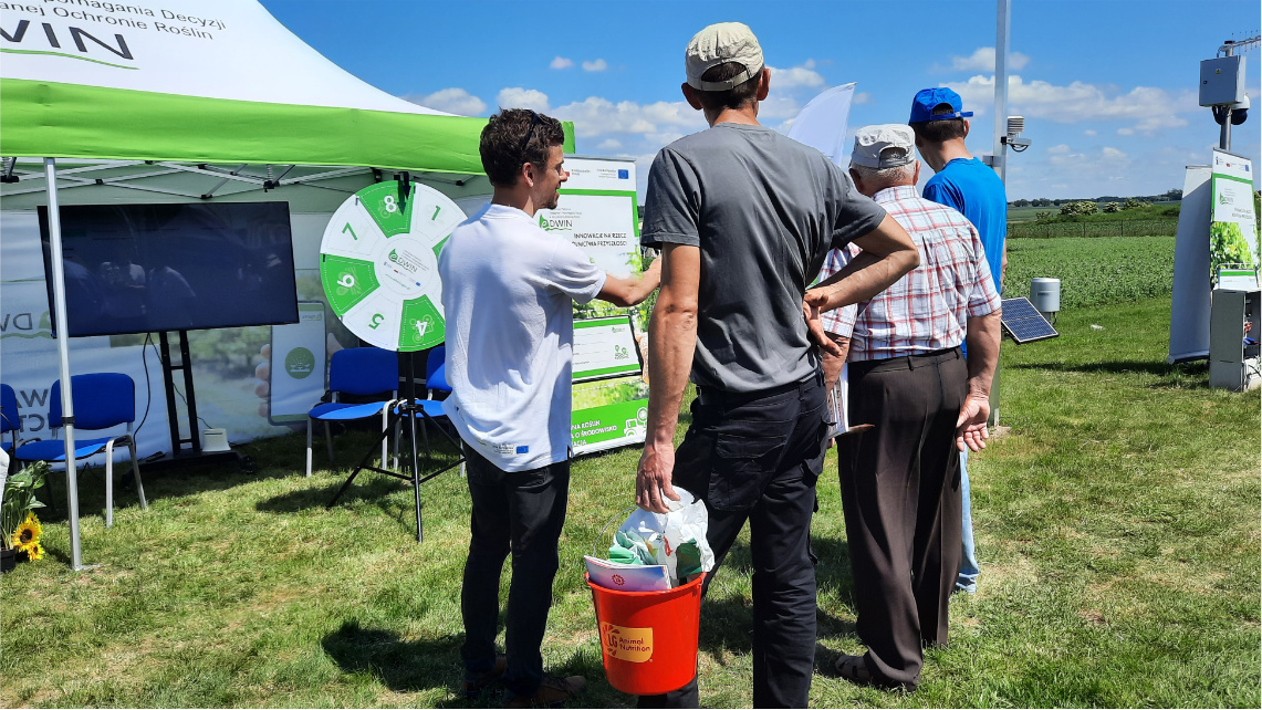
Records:
[[[756,395],[703,390],[675,453],[673,484],[705,502],[714,581],[750,522],[753,557],[753,705],[805,707],[815,662],[815,567],[810,517],[824,465],[824,386],[806,382]],[[704,593],[704,590],[703,590]],[[697,707],[697,678],[640,699],[641,707]]]

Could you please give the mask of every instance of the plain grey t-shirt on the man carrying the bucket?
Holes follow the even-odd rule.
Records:
[[[883,218],[822,153],[764,126],[718,124],[661,149],[640,241],[700,247],[693,381],[758,392],[810,377],[803,294],[828,250]]]

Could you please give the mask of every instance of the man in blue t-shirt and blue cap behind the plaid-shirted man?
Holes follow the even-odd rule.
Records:
[[[986,247],[986,261],[996,275],[994,290],[1003,293],[1003,272],[1008,266],[1005,237],[1007,236],[1008,198],[1003,180],[988,165],[973,158],[964,146],[972,111],[963,110],[963,101],[954,91],[925,88],[911,102],[907,124],[916,134],[916,149],[934,170],[925,184],[925,199],[954,207],[977,227]],[[968,352],[965,351],[965,356]],[[968,487],[968,451],[960,454],[960,491],[963,494],[963,541],[959,578],[955,589],[977,590],[977,552],[973,546],[973,515]]]

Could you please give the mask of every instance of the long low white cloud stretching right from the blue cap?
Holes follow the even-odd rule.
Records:
[[[994,77],[976,76],[967,82],[949,82],[978,115],[994,102]],[[1079,121],[1135,121],[1133,131],[1151,134],[1161,129],[1184,126],[1179,112],[1196,111],[1196,97],[1190,91],[1170,93],[1164,88],[1137,86],[1121,93],[1097,84],[1075,81],[1058,86],[1045,81],[1025,82],[1020,76],[1008,77],[1010,112],[1029,119],[1058,124]]]

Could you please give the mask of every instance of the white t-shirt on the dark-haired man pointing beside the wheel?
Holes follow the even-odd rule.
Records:
[[[570,445],[574,301],[604,271],[525,212],[488,204],[438,257],[447,318],[444,411],[501,470],[565,460]]]

